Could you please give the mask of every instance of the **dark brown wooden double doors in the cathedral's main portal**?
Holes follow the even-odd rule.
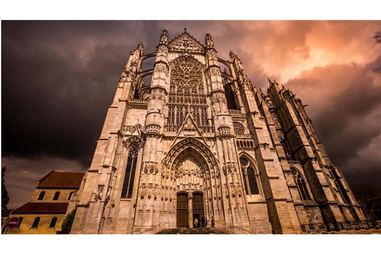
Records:
[[[199,224],[204,216],[204,196],[200,192],[193,193],[192,198],[192,221],[197,218]],[[188,193],[177,194],[177,227],[188,227],[189,221],[189,201]],[[198,225],[199,225],[198,224]]]

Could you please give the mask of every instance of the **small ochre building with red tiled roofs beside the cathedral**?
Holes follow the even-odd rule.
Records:
[[[38,181],[30,201],[14,209],[9,218],[19,219],[6,234],[56,234],[66,213],[75,208],[73,198],[84,173],[51,171]]]

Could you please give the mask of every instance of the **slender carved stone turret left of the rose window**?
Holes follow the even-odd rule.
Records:
[[[138,191],[137,209],[144,207],[156,207],[160,205],[163,196],[159,195],[162,189],[161,183],[161,159],[162,158],[162,135],[165,118],[165,101],[168,89],[168,32],[163,30],[157,48],[155,64],[152,73],[151,91],[148,100],[147,115],[145,117],[145,145],[142,159],[142,171],[140,179],[144,184]],[[149,214],[142,220],[137,218],[136,224],[141,227],[150,227],[155,223],[154,217],[164,212],[155,209],[157,214]],[[145,213],[145,211],[143,211]]]

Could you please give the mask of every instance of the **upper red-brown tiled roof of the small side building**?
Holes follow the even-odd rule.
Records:
[[[37,188],[79,189],[85,173],[51,171],[40,179]]]

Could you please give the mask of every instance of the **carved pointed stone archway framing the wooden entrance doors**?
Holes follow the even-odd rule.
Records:
[[[193,227],[192,195],[202,193],[198,211],[204,217],[223,218],[222,184],[219,163],[210,149],[195,138],[185,138],[175,143],[163,159],[163,176],[169,196],[175,198],[170,227],[177,227],[177,194],[188,194],[188,226]],[[197,196],[197,194],[196,194]],[[198,197],[196,197],[197,199]],[[203,206],[201,205],[203,203]],[[203,208],[202,210],[201,207]],[[201,216],[200,216],[201,218]]]

